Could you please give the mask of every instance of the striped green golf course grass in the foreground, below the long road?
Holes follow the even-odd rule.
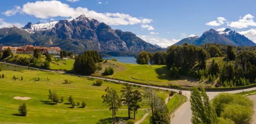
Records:
[[[36,123],[36,124],[96,124],[99,121],[111,121],[111,111],[104,106],[101,96],[105,94],[104,89],[107,87],[114,88],[120,95],[123,84],[103,82],[102,86],[92,86],[95,82],[85,77],[70,76],[67,74],[51,73],[45,71],[35,71],[24,69],[22,71],[0,71],[0,74],[7,75],[6,78],[0,79],[0,122],[19,122],[19,123]],[[11,79],[23,76],[23,81]],[[33,78],[40,78],[40,81],[33,81]],[[50,78],[49,81],[46,78]],[[64,84],[64,79],[73,81],[72,84]],[[143,88],[132,86],[141,92]],[[64,97],[64,103],[56,105],[46,104],[48,101],[48,90],[57,91],[57,94]],[[158,96],[165,99],[170,92],[157,90]],[[85,101],[85,108],[69,108],[67,99],[72,95],[74,101]],[[32,99],[23,101],[13,99],[15,96],[31,97]],[[28,107],[28,116],[18,115],[18,106],[25,102]],[[147,108],[143,105],[143,108]],[[127,109],[123,106],[121,109]],[[96,111],[99,110],[99,111]],[[147,111],[139,110],[136,114],[136,120],[142,118]],[[127,110],[120,110],[117,113],[120,118],[127,117]]]

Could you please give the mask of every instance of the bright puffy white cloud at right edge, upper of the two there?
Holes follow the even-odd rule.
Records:
[[[238,21],[232,21],[228,23],[228,26],[233,28],[248,28],[248,26],[256,26],[255,21],[253,20],[254,16],[251,14],[245,15],[243,18]]]

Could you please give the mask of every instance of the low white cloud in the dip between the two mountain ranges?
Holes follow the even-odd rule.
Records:
[[[180,39],[174,39],[172,38],[171,40],[167,40],[166,38],[159,38],[156,36],[149,36],[149,35],[138,35],[142,40],[147,41],[148,43],[151,44],[157,44],[161,47],[168,47],[172,46],[174,43],[177,43]]]

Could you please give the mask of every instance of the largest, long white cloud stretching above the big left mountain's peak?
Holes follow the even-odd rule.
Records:
[[[77,1],[77,0],[70,0]],[[51,1],[36,1],[35,3],[26,3],[21,8],[20,13],[33,15],[36,18],[54,18],[54,17],[71,17],[76,18],[79,15],[86,15],[90,18],[95,18],[100,22],[107,23],[108,25],[134,25],[151,23],[153,20],[147,18],[135,18],[128,14],[123,13],[97,13],[87,8],[72,8],[68,4],[61,3],[57,0]],[[152,27],[153,28],[153,27]],[[152,30],[152,28],[149,28]],[[153,28],[154,29],[154,28]]]

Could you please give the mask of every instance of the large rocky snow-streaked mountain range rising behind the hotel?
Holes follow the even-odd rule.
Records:
[[[113,30],[109,25],[85,15],[49,23],[29,22],[23,28],[11,25],[0,29],[0,45],[24,44],[59,46],[74,53],[83,53],[86,50],[139,52],[158,48],[134,33]]]

